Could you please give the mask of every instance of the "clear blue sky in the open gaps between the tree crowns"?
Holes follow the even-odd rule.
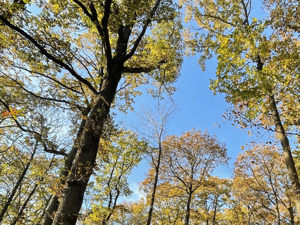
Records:
[[[220,178],[229,178],[232,164],[238,152],[241,152],[241,146],[245,145],[247,140],[251,140],[251,137],[244,131],[232,126],[229,122],[222,124],[220,128],[214,126],[216,122],[221,123],[222,115],[226,111],[228,104],[224,99],[224,95],[213,95],[213,91],[209,89],[209,79],[215,78],[216,59],[213,58],[207,61],[206,71],[203,72],[198,65],[198,58],[199,55],[190,58],[184,57],[181,75],[175,83],[178,90],[172,97],[178,103],[180,110],[173,116],[169,124],[168,134],[180,135],[189,131],[192,127],[201,131],[208,129],[211,134],[216,134],[220,142],[226,143],[227,154],[231,157],[231,160],[229,161],[229,167],[217,167],[213,175]],[[143,91],[142,88],[141,91]],[[143,95],[135,99],[134,109],[140,112],[140,107],[146,104],[154,107],[157,104],[157,100],[143,91]],[[116,121],[118,120],[136,121],[137,116],[134,112],[128,112],[126,115],[117,112]],[[140,194],[137,191],[137,183],[144,179],[146,171],[146,164],[142,162],[138,168],[134,168],[132,175],[128,177],[130,187],[135,191],[131,200],[139,199]],[[122,198],[122,200],[125,199]]]

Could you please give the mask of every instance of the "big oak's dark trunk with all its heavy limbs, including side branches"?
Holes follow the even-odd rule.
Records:
[[[76,224],[76,220],[82,205],[83,196],[88,183],[88,179],[91,176],[92,168],[95,164],[103,125],[110,111],[110,105],[113,102],[113,99],[116,95],[116,89],[121,79],[122,70],[127,69],[124,72],[137,72],[134,69],[129,70],[129,68],[125,68],[124,63],[128,59],[130,59],[136,52],[137,47],[140,45],[140,42],[143,36],[145,35],[146,30],[149,24],[152,22],[153,16],[161,3],[161,0],[157,0],[155,2],[155,5],[153,6],[149,15],[147,15],[147,19],[145,20],[142,26],[140,34],[134,41],[131,50],[127,53],[131,29],[135,23],[134,19],[132,20],[131,24],[126,24],[125,26],[121,24],[119,26],[116,48],[112,51],[112,48],[110,46],[110,33],[108,28],[112,1],[106,0],[104,2],[104,12],[101,13],[103,15],[101,21],[99,20],[98,12],[95,9],[95,6],[92,1],[88,3],[89,9],[85,6],[85,4],[82,4],[81,1],[73,1],[82,9],[83,13],[91,19],[91,22],[93,22],[96,29],[98,30],[98,33],[101,37],[101,41],[104,44],[107,75],[103,79],[103,84],[100,92],[98,92],[95,89],[95,87],[90,82],[88,82],[87,79],[80,76],[71,66],[69,66],[60,58],[56,58],[54,55],[51,55],[51,53],[48,52],[48,49],[45,49],[39,43],[39,41],[35,40],[33,36],[31,36],[25,30],[22,30],[21,28],[13,25],[4,16],[0,15],[0,20],[3,22],[4,26],[9,27],[10,29],[16,31],[24,38],[26,38],[26,40],[33,44],[33,46],[35,46],[42,55],[44,55],[47,59],[53,61],[55,64],[59,65],[61,68],[67,70],[79,82],[85,84],[95,95],[93,101],[93,109],[91,110],[90,116],[88,116],[88,119],[86,120],[85,129],[83,129],[82,135],[80,137],[79,147],[75,159],[73,161],[72,167],[70,169],[70,174],[68,174],[67,176],[64,190],[61,193],[59,199],[59,206],[56,211],[52,225]],[[163,62],[161,62],[160,64],[162,63]],[[143,67],[139,68],[138,72],[149,72],[149,70],[154,70],[158,67],[159,65],[157,67],[151,67],[150,69]],[[48,101],[55,101],[55,99],[44,99]],[[65,103],[69,104],[69,102]],[[57,202],[53,201],[53,205],[57,205],[56,203]],[[52,209],[50,208],[50,210]]]

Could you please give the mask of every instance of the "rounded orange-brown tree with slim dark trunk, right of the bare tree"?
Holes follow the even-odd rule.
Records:
[[[190,208],[195,191],[206,185],[210,173],[217,165],[226,165],[225,144],[208,131],[196,131],[194,128],[182,134],[168,136],[162,143],[161,187],[176,189],[183,193],[186,203],[185,224],[189,224]]]

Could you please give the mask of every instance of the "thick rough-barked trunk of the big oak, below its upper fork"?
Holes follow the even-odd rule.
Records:
[[[116,94],[121,79],[121,68],[113,67],[107,73],[101,92],[95,98],[95,105],[88,117],[82,132],[78,152],[71,167],[70,174],[61,193],[58,210],[53,225],[75,225],[80,211],[83,196],[89,177],[91,176],[98,152],[99,140],[104,122],[110,111],[110,105]],[[119,71],[118,71],[119,69]]]

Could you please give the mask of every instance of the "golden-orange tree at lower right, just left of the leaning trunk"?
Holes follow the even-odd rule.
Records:
[[[295,205],[284,162],[275,146],[253,146],[235,162],[235,197],[269,224],[295,224]]]

